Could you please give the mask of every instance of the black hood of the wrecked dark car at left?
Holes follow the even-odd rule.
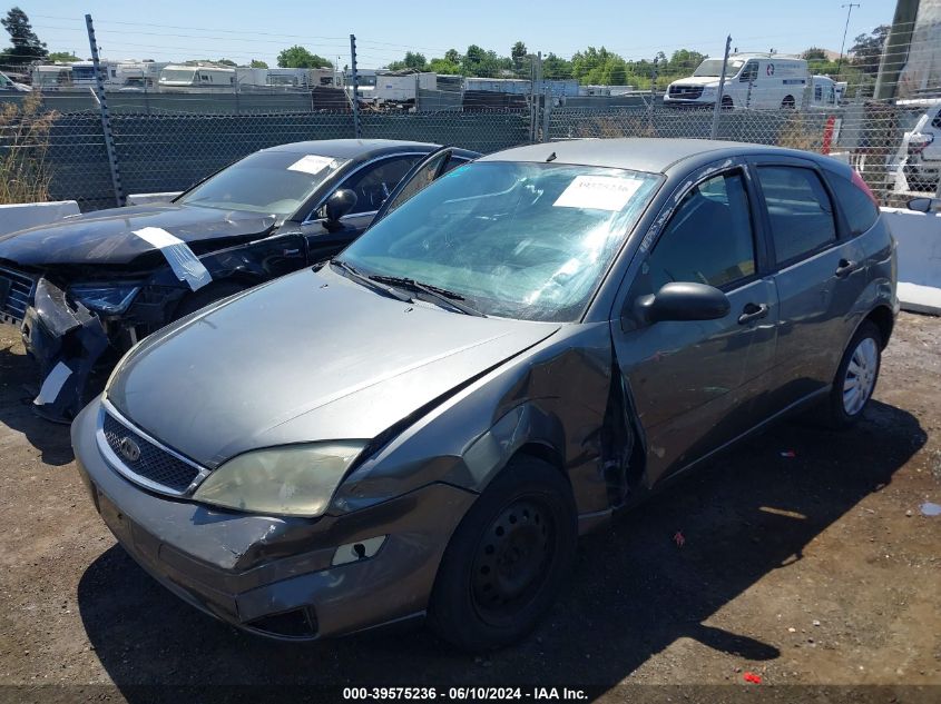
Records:
[[[147,266],[153,261],[154,247],[134,230],[163,228],[200,255],[228,246],[233,239],[266,232],[274,224],[273,216],[175,204],[111,208],[0,237],[0,259],[36,268]]]

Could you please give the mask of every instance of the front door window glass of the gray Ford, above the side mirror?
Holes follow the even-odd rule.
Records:
[[[656,292],[670,281],[728,286],[754,274],[748,196],[742,175],[733,172],[703,181],[683,198],[640,276],[646,292]]]

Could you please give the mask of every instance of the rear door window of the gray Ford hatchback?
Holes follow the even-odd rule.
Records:
[[[813,169],[758,167],[778,262],[791,261],[836,240],[833,204]]]

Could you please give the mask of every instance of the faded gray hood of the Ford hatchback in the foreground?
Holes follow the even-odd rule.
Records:
[[[402,303],[303,269],[151,335],[106,394],[215,467],[259,447],[373,438],[558,328]]]

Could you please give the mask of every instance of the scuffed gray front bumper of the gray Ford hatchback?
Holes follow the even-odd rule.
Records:
[[[263,635],[311,639],[424,612],[450,536],[476,494],[432,484],[343,516],[272,517],[158,496],[107,463],[100,400],[72,424],[76,459],[121,546],[184,601]],[[334,565],[337,547],[388,536],[371,557]]]

